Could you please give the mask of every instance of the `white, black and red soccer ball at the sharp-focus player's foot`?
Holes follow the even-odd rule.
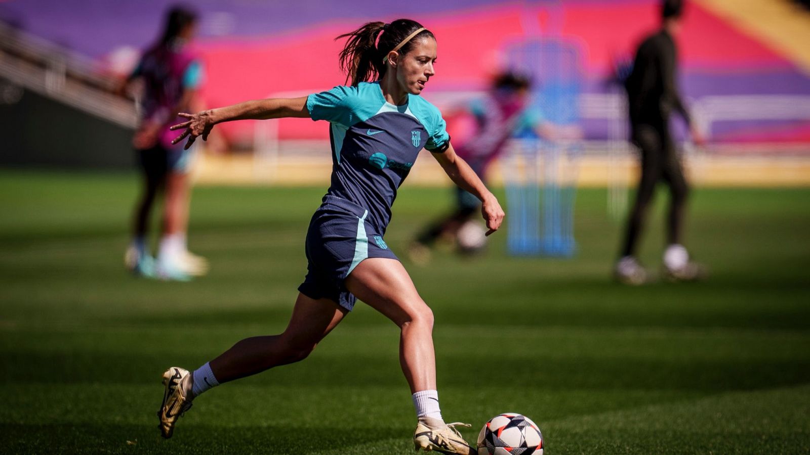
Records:
[[[496,415],[481,428],[478,455],[543,455],[543,434],[525,415]]]

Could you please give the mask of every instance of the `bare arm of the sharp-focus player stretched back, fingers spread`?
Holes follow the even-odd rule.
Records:
[[[309,117],[306,99],[306,96],[301,96],[301,98],[269,98],[267,100],[245,101],[224,108],[207,109],[195,114],[179,113],[178,115],[189,119],[189,121],[171,127],[171,130],[184,130],[172,143],[181,142],[187,136],[189,140],[185,142],[184,148],[189,148],[198,136],[203,136],[203,141],[207,140],[208,134],[211,133],[214,125],[223,121]]]

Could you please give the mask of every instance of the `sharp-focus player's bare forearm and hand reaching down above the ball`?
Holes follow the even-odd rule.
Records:
[[[484,216],[484,221],[487,222],[487,228],[489,229],[487,235],[501,228],[504,219],[504,210],[501,209],[501,204],[498,203],[495,195],[487,189],[479,176],[475,174],[475,171],[470,168],[467,161],[456,155],[453,146],[449,145],[447,150],[432,155],[439,162],[441,168],[445,170],[447,176],[450,176],[450,180],[480,199],[482,202],[481,215]]]

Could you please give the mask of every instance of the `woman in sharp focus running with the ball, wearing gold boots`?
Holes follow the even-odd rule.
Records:
[[[174,424],[191,400],[211,386],[304,359],[352,310],[356,299],[394,321],[401,330],[399,359],[411,387],[416,449],[475,453],[441,418],[436,391],[433,313],[411,277],[388,249],[383,235],[399,185],[424,147],[448,176],[483,202],[482,214],[495,232],[504,212],[470,166],[450,146],[441,113],[422,97],[434,74],[433,33],[410,19],[366,23],[347,37],[340,65],[352,85],[294,99],[246,101],[194,115],[172,128],[175,142],[211,132],[222,121],[310,117],[330,122],[331,186],[313,215],[306,236],[308,273],[282,334],[246,338],[193,373],[164,372],[158,411],[160,430]],[[377,44],[375,44],[377,43]],[[365,82],[374,81],[374,82]]]

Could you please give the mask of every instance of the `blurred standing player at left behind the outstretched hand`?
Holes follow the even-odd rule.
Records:
[[[164,31],[143,53],[138,65],[122,83],[122,91],[136,79],[142,81],[141,121],[132,143],[143,175],[143,192],[135,203],[132,240],[125,263],[135,274],[185,281],[207,272],[207,260],[186,247],[190,205],[189,168],[194,149],[172,145],[170,125],[178,112],[202,108],[197,92],[203,66],[190,51],[198,16],[187,6],[173,6]],[[157,261],[152,259],[148,230],[158,193],[164,193],[162,235]]]

